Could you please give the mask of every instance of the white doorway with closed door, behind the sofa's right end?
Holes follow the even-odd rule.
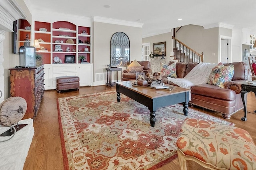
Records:
[[[221,37],[220,62],[231,63],[231,37]]]

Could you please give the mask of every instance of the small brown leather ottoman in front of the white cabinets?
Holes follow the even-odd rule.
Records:
[[[56,77],[56,90],[58,93],[60,93],[62,90],[79,90],[79,86],[78,76]]]

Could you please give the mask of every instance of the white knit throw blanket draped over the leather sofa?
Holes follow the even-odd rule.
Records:
[[[216,65],[217,64],[199,63],[184,78],[167,77],[167,79],[182,88],[190,89],[191,86],[206,84],[212,72],[212,68]],[[191,93],[189,100],[191,100]]]

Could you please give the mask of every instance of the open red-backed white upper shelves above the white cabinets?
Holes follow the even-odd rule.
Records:
[[[90,27],[68,21],[34,22],[34,39],[39,39],[41,46],[37,53],[42,55],[44,64],[56,64],[54,57],[64,63],[66,55],[75,56],[73,63],[80,63],[80,55],[84,55],[84,61],[91,63],[90,37]]]

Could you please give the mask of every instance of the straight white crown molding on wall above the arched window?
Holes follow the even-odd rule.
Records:
[[[105,17],[99,17],[99,16],[93,16],[92,19],[94,22],[112,23],[112,24],[116,24],[116,25],[125,25],[125,26],[140,27],[140,28],[142,28],[142,26],[144,24],[144,23],[116,20],[116,19],[112,19],[112,18],[105,18]]]

